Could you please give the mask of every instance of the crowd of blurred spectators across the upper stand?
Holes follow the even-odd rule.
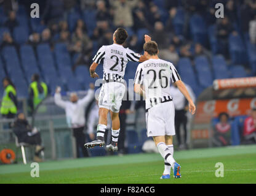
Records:
[[[5,2],[5,1],[4,1]],[[114,29],[118,26],[126,28],[130,32],[126,47],[132,50],[142,51],[142,42],[139,40],[137,32],[139,29],[148,29],[153,40],[158,42],[161,49],[160,56],[169,61],[177,62],[180,57],[188,57],[193,60],[198,55],[210,56],[210,47],[207,43],[194,43],[190,36],[189,20],[191,15],[198,13],[206,21],[206,25],[215,24],[220,50],[218,53],[229,58],[228,36],[241,32],[249,33],[252,43],[256,40],[256,1],[254,0],[176,0],[158,1],[153,0],[55,0],[55,1],[34,1],[40,6],[40,20],[45,28],[41,32],[31,32],[27,43],[36,47],[39,43],[49,43],[53,48],[55,43],[61,42],[67,45],[68,51],[76,58],[74,66],[79,64],[90,64],[92,61],[94,42],[97,46],[112,43]],[[215,17],[215,4],[222,2],[225,6],[225,18]],[[31,1],[20,1],[29,8]],[[1,47],[14,45],[12,32],[18,26],[16,11],[18,6],[4,4],[4,11],[8,13],[8,18],[4,26],[10,29],[1,37]],[[7,6],[6,6],[7,4]],[[185,10],[185,23],[183,32],[176,34],[174,31],[174,18],[177,10],[182,7]],[[68,23],[68,15],[73,12],[82,13],[84,10],[94,10],[96,24],[94,29],[87,29],[87,25],[82,18],[76,24]],[[241,16],[241,20],[238,18]],[[30,10],[27,10],[28,14]],[[240,24],[239,21],[242,21]],[[74,25],[71,28],[70,25]]]

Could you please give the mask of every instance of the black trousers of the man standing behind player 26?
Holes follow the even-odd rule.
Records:
[[[180,127],[183,126],[185,132],[185,143],[186,143],[186,123],[188,119],[186,118],[186,111],[185,110],[175,110],[175,132],[178,139],[178,144],[182,144],[182,140],[180,138]]]

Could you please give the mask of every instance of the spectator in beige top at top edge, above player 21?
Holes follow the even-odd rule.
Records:
[[[110,4],[114,9],[114,25],[125,28],[134,25],[132,17],[132,9],[138,4],[138,0],[110,0]]]

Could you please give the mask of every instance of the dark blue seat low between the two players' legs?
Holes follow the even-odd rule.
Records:
[[[141,153],[142,152],[142,145],[138,141],[138,134],[135,130],[127,130],[126,132],[127,137],[127,153]]]

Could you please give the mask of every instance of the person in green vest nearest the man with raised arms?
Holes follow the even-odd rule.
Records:
[[[31,108],[31,112],[36,109],[38,104],[47,97],[48,89],[46,83],[40,81],[40,77],[38,74],[33,74],[32,83],[30,83],[30,87],[28,89],[29,92],[29,105]]]

